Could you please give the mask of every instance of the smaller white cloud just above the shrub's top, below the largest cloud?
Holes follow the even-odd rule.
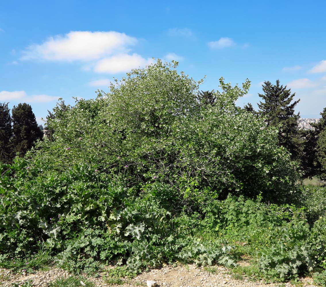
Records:
[[[144,59],[138,54],[119,54],[98,61],[95,65],[97,73],[122,73],[152,63],[152,59]]]

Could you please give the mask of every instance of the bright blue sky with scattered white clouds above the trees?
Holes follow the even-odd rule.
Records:
[[[288,85],[303,118],[326,107],[325,1],[1,1],[0,102],[45,118],[57,99],[94,98],[152,57],[179,61],[201,90]]]

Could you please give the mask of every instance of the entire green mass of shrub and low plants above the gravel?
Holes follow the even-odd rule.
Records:
[[[0,266],[113,263],[128,277],[249,257],[248,274],[325,280],[325,188],[296,184],[280,123],[235,105],[248,80],[199,93],[201,81],[157,60],[96,99],[60,101],[48,136],[0,165]]]

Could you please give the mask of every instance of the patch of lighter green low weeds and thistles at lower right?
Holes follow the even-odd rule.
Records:
[[[243,196],[229,196],[202,211],[205,218],[201,224],[216,230],[225,241],[236,241],[239,247],[234,253],[255,258],[254,266],[266,278],[293,278],[325,267],[325,217],[310,229],[304,208],[267,205],[260,198]]]

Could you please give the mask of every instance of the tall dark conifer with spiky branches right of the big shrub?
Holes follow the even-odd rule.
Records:
[[[287,86],[280,85],[277,79],[273,85],[265,81],[262,85],[264,94],[258,94],[263,102],[258,104],[259,114],[266,118],[267,125],[280,126],[278,134],[279,145],[285,147],[290,153],[292,160],[301,160],[304,140],[299,135],[299,113],[294,113],[294,107],[300,101],[293,101],[295,93]]]

